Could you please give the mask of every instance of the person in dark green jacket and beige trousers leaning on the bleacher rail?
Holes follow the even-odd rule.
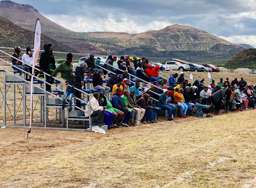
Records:
[[[67,53],[66,60],[62,62],[56,69],[51,72],[51,76],[55,76],[58,72],[61,74],[60,81],[62,83],[62,89],[66,90],[67,85],[65,84],[66,80],[71,80],[73,76],[73,65],[72,62],[72,53]]]

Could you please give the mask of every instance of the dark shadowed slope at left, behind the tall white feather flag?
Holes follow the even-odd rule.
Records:
[[[22,48],[26,48],[27,46],[33,47],[34,32],[21,28],[2,16],[0,16],[0,25],[0,46],[14,47],[15,45],[19,45]],[[54,44],[54,50],[76,51],[48,36],[41,35],[41,49],[48,42]]]

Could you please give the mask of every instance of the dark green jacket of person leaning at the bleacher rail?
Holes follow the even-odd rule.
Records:
[[[55,76],[58,72],[61,73],[61,77],[65,80],[70,80],[72,79],[73,76],[73,65],[67,64],[66,61],[62,62],[58,67],[51,72],[53,76]]]

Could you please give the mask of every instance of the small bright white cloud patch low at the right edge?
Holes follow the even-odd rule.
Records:
[[[256,47],[256,35],[218,36],[232,43],[245,43]]]

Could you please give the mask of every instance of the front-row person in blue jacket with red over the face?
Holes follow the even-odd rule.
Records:
[[[122,120],[121,125],[128,126],[128,121],[130,119],[131,112],[128,109],[126,109],[124,107],[124,105],[122,104],[121,95],[122,95],[121,88],[117,88],[116,93],[113,94],[111,103],[114,108],[119,109],[120,111],[122,111],[124,113],[124,116],[123,116],[124,118]]]

